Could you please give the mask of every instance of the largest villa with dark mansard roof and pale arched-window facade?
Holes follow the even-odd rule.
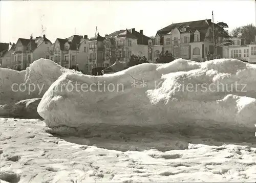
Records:
[[[169,25],[157,31],[153,43],[153,61],[156,61],[161,52],[166,51],[172,53],[175,59],[205,61],[209,51],[214,53],[212,32],[211,19]],[[222,36],[228,37],[227,34],[222,34],[218,41],[223,40]]]

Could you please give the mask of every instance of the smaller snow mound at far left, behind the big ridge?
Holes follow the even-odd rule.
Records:
[[[50,85],[65,72],[72,71],[43,58],[30,64],[26,71],[0,68],[1,104],[41,98]]]

